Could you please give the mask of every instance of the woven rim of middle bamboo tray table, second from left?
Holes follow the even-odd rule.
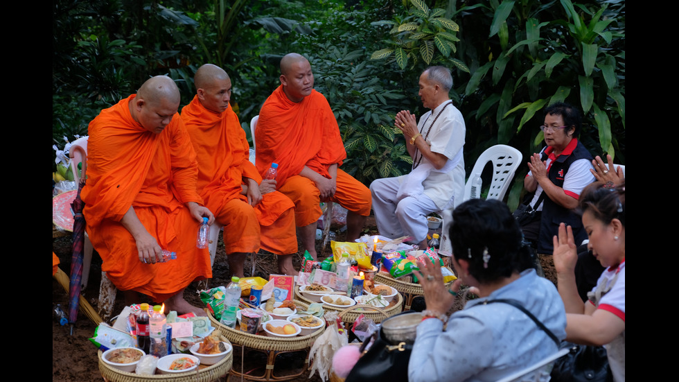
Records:
[[[293,300],[295,305],[301,306],[306,310],[309,305],[301,302],[297,299]],[[259,350],[269,350],[269,351],[293,351],[293,350],[303,350],[308,349],[313,345],[316,338],[318,338],[325,327],[319,328],[317,331],[308,334],[307,336],[297,336],[292,338],[276,338],[261,336],[258,334],[245,333],[238,329],[232,329],[230,327],[220,324],[214,316],[208,311],[208,317],[212,322],[213,327],[219,329],[222,335],[228,338],[233,345],[245,346],[251,349]]]

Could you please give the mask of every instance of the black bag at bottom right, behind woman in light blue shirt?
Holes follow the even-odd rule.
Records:
[[[552,369],[551,382],[612,382],[606,348],[573,345],[570,353],[559,358]]]

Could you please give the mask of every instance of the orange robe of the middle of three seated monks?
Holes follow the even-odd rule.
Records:
[[[182,109],[182,119],[197,155],[197,189],[224,225],[227,254],[258,252],[260,246],[274,254],[297,252],[292,201],[274,191],[252,207],[241,195],[244,177],[258,184],[262,177],[249,162],[249,144],[231,107],[215,113],[195,96]]]

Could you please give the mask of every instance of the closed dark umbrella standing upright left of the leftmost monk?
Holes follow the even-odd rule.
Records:
[[[85,203],[80,199],[80,191],[85,185],[85,177],[78,184],[78,196],[71,203],[73,209],[73,257],[71,259],[71,284],[69,285],[69,322],[71,334],[73,324],[78,318],[78,303],[80,302],[80,281],[82,279],[82,248],[85,245],[85,216],[82,216],[82,208]]]

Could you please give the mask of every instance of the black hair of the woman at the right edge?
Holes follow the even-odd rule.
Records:
[[[581,214],[590,211],[594,218],[609,225],[618,219],[625,226],[625,181],[619,186],[599,182],[586,186],[578,200]]]

